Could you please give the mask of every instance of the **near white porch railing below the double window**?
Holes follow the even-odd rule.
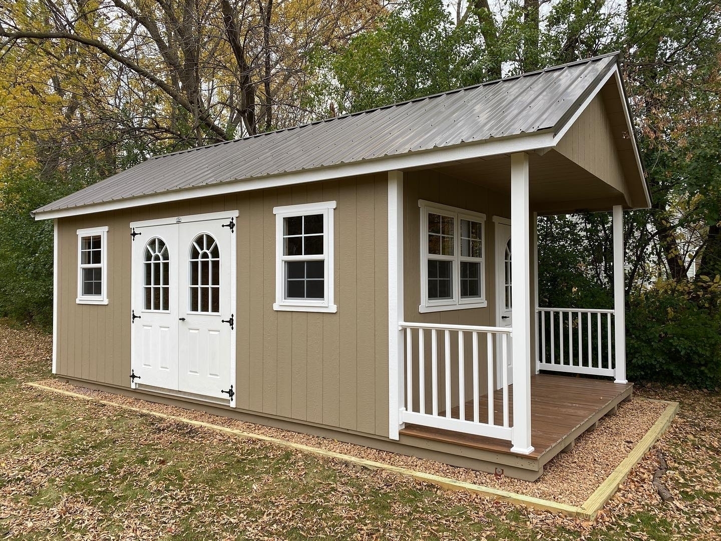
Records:
[[[510,328],[405,322],[399,328],[405,344],[400,421],[511,441],[508,370],[501,370],[498,411],[494,400],[495,360],[508,365]]]

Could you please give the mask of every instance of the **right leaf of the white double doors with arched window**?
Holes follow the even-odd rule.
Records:
[[[228,398],[231,382],[231,235],[221,220],[180,224],[179,389]]]

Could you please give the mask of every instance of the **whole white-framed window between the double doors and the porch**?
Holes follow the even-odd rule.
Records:
[[[335,312],[335,201],[275,207],[275,310]]]

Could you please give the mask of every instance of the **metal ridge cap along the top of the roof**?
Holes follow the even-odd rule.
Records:
[[[245,137],[238,138],[238,139],[231,139],[231,140],[227,140],[227,141],[218,141],[218,143],[194,146],[193,148],[185,148],[184,150],[181,150],[181,151],[174,151],[174,152],[169,152],[169,153],[165,153],[165,154],[159,154],[157,156],[151,156],[151,158],[149,158],[149,159],[167,158],[168,156],[176,156],[177,154],[183,154],[183,153],[193,152],[193,151],[200,151],[200,150],[203,150],[204,148],[215,148],[216,146],[227,145],[229,143],[240,143],[241,141],[245,141],[245,140],[257,139],[257,138],[261,138],[261,137],[265,137],[265,136],[274,135],[276,133],[285,133],[285,132],[288,132],[291,130],[307,128],[308,126],[324,124],[326,122],[332,122],[334,120],[342,120],[345,118],[365,115],[366,113],[369,113],[369,112],[381,111],[383,109],[391,109],[392,107],[400,107],[402,105],[407,105],[407,104],[416,103],[416,102],[423,102],[425,99],[435,99],[435,98],[442,97],[442,96],[456,94],[461,91],[474,90],[474,89],[478,89],[482,86],[490,86],[492,84],[499,84],[499,83],[504,83],[507,81],[516,81],[517,79],[522,79],[523,77],[537,76],[537,75],[540,75],[541,73],[549,73],[550,71],[557,71],[560,69],[570,68],[572,66],[578,66],[579,64],[588,64],[591,62],[597,62],[603,58],[609,58],[611,56],[619,56],[620,57],[620,55],[621,55],[621,51],[616,50],[612,53],[606,53],[603,55],[594,56],[592,58],[583,58],[581,60],[567,62],[565,64],[559,64],[558,66],[549,66],[548,68],[543,68],[543,69],[539,69],[536,71],[529,71],[528,73],[519,73],[518,75],[514,75],[514,76],[510,76],[510,77],[502,77],[501,79],[493,79],[492,81],[485,81],[483,83],[472,84],[469,86],[461,86],[460,88],[457,88],[457,89],[451,89],[451,90],[446,90],[443,92],[437,92],[436,94],[429,94],[428,96],[420,96],[417,98],[407,99],[403,102],[396,102],[396,103],[392,103],[392,104],[381,105],[379,107],[372,107],[371,109],[363,109],[362,111],[349,112],[349,113],[346,113],[345,115],[340,115],[340,117],[323,118],[320,120],[314,120],[312,122],[306,122],[304,124],[298,124],[296,126],[289,126],[288,128],[279,128],[278,130],[272,130],[270,132],[257,133],[255,135],[247,135]]]

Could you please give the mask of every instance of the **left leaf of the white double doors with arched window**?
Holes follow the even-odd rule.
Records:
[[[133,238],[133,374],[135,383],[177,390],[177,225]]]

